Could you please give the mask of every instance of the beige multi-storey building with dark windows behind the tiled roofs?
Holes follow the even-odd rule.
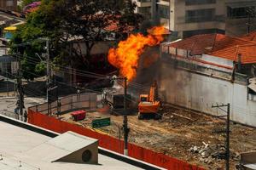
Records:
[[[135,0],[137,13],[173,31],[174,37],[203,33],[239,36],[253,30],[256,0]],[[248,11],[251,11],[248,13]],[[248,14],[251,19],[248,21]],[[171,22],[170,22],[171,20]]]

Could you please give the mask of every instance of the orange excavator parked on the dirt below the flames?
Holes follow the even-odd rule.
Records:
[[[150,87],[149,94],[141,94],[138,104],[138,119],[144,116],[153,115],[154,119],[160,119],[160,100],[158,99],[157,82],[154,81]]]

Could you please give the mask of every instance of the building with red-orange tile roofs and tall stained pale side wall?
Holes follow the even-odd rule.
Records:
[[[203,34],[163,43],[160,91],[167,103],[212,115],[230,103],[230,119],[256,127],[256,33]]]

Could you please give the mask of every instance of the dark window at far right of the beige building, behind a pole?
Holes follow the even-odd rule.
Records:
[[[227,16],[230,19],[247,18],[247,11],[255,11],[255,7],[231,8],[228,6]]]

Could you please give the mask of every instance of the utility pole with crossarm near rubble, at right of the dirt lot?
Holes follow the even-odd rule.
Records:
[[[230,170],[230,103],[227,105],[212,105],[212,108],[219,108],[227,107],[227,120],[226,120],[226,141],[225,141],[225,160],[226,160],[226,170]],[[222,110],[222,109],[221,109]],[[224,111],[224,110],[222,110]],[[218,116],[220,117],[220,116]]]

